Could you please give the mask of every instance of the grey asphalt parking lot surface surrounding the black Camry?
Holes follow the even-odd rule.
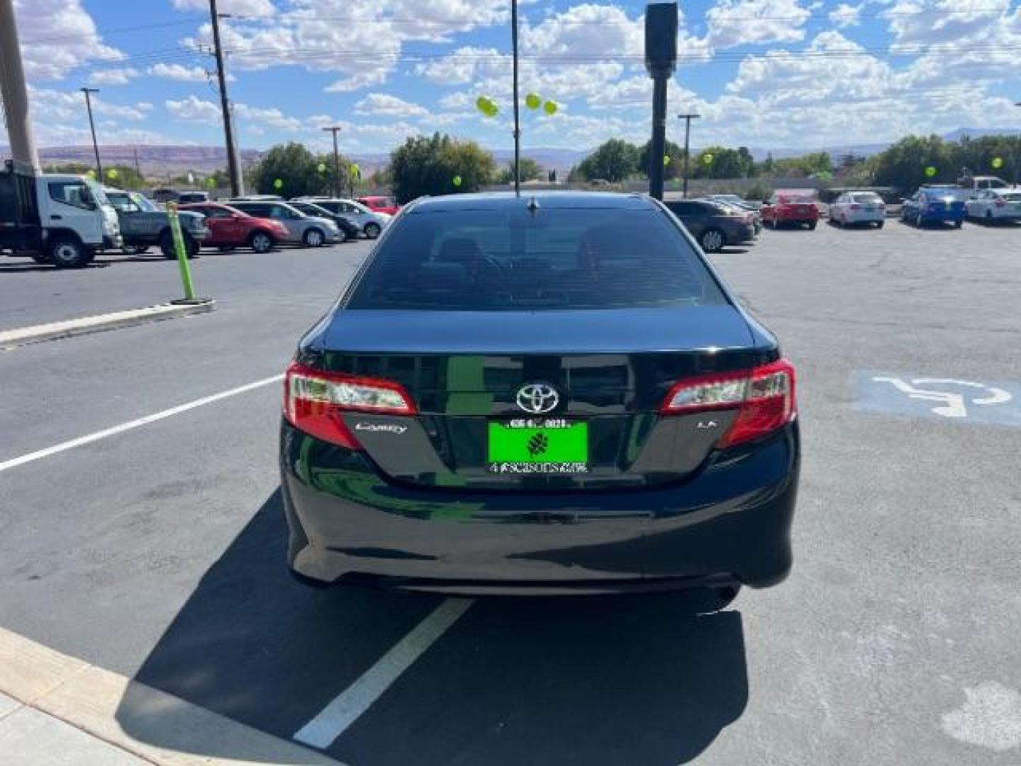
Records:
[[[288,577],[274,378],[370,247],[210,253],[212,314],[0,352],[0,627],[352,766],[1018,763],[1021,228],[713,256],[797,365],[804,439],[790,578],[713,614]],[[180,286],[29,264],[0,261],[0,329]]]

